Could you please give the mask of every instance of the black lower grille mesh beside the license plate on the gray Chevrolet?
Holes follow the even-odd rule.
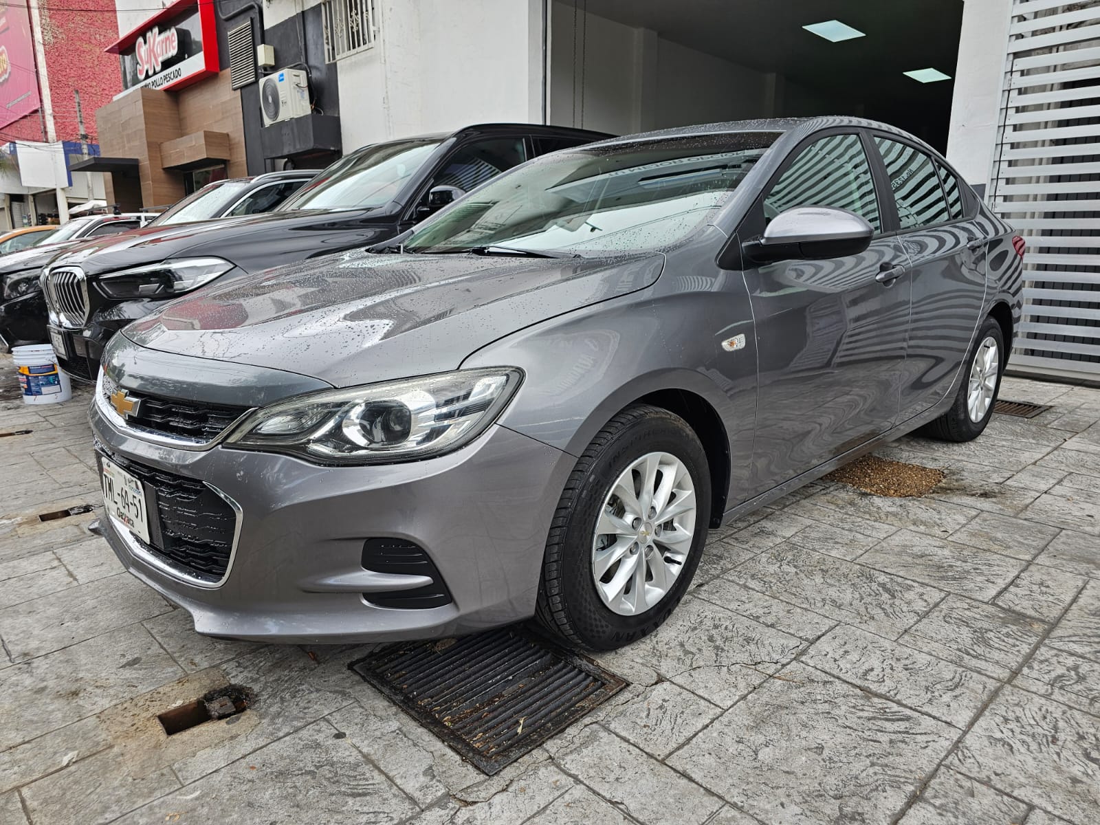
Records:
[[[153,492],[155,509],[150,507],[150,512],[157,515],[150,524],[153,543],[146,544],[136,536],[133,540],[168,566],[193,579],[205,583],[220,581],[229,570],[237,534],[237,513],[229,503],[200,481],[102,451]]]

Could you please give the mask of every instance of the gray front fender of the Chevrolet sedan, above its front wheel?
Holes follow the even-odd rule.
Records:
[[[747,497],[756,428],[751,307],[741,274],[714,264],[721,233],[706,234],[707,242],[669,253],[652,287],[535,324],[463,361],[463,367],[507,364],[540,376],[520,387],[501,424],[580,455],[639,398],[693,393],[725,426],[730,496]],[[739,334],[744,348],[723,349],[722,341]]]

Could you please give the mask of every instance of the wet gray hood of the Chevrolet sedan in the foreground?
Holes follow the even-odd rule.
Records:
[[[498,338],[651,285],[663,262],[355,251],[211,285],[123,334],[353,386],[454,370]]]

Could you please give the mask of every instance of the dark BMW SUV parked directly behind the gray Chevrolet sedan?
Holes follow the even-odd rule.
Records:
[[[167,299],[215,278],[378,243],[531,157],[606,136],[497,123],[377,143],[332,164],[268,215],[151,227],[77,246],[43,276],[51,343],[69,375],[94,380],[111,336]]]

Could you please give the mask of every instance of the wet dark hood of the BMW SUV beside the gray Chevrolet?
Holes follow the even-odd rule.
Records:
[[[319,223],[348,220],[354,212],[331,212],[323,209],[296,212],[266,212],[233,218],[216,218],[169,227],[145,227],[117,235],[106,235],[86,241],[67,250],[54,264],[79,266],[87,275],[144,266],[179,256],[218,255],[224,257],[228,242],[239,243],[242,238],[265,231],[279,233],[316,227]],[[219,254],[221,253],[221,254]],[[231,258],[230,258],[231,260]],[[237,263],[233,261],[233,263]]]

